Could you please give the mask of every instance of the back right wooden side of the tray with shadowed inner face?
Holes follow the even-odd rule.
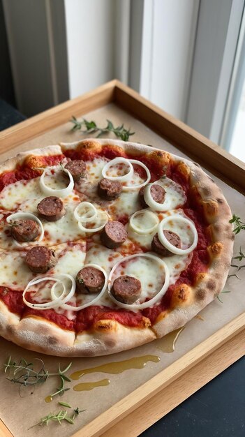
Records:
[[[228,151],[119,82],[116,84],[115,101],[173,145],[197,156],[209,167],[211,165],[211,168],[218,169],[218,172],[228,179],[232,178],[237,186],[245,190],[245,163]]]

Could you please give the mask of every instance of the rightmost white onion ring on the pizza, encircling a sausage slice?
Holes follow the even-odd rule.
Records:
[[[177,243],[177,237],[170,237],[169,233],[165,233],[166,230],[171,232],[177,230],[177,235],[181,238],[181,248]],[[177,255],[186,255],[197,246],[198,232],[189,218],[179,215],[167,216],[158,225],[158,239],[168,251]]]

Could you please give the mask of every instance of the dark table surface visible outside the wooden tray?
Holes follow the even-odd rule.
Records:
[[[0,131],[25,117],[0,99]],[[186,399],[141,437],[245,437],[245,357]]]

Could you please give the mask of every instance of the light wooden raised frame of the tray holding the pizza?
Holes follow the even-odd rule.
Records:
[[[118,80],[22,121],[0,133],[0,154],[108,103],[145,125],[245,193],[245,164]],[[245,312],[128,394],[73,437],[138,436],[245,353]],[[207,371],[209,369],[209,371]],[[144,405],[144,408],[141,408]],[[13,437],[0,420],[0,437]]]

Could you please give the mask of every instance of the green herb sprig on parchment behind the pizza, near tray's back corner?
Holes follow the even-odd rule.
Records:
[[[98,133],[96,138],[101,137],[101,135],[104,135],[105,133],[114,133],[117,138],[120,138],[123,141],[128,141],[129,137],[131,135],[134,135],[135,132],[131,132],[131,129],[124,128],[124,124],[121,124],[121,126],[115,127],[110,120],[107,121],[107,126],[105,128],[100,128],[97,126],[95,121],[88,121],[87,119],[82,119],[82,121],[78,121],[76,117],[72,117],[70,120],[71,123],[74,124],[73,128],[71,128],[71,131],[81,131],[82,133]],[[82,127],[85,129],[82,130]]]

